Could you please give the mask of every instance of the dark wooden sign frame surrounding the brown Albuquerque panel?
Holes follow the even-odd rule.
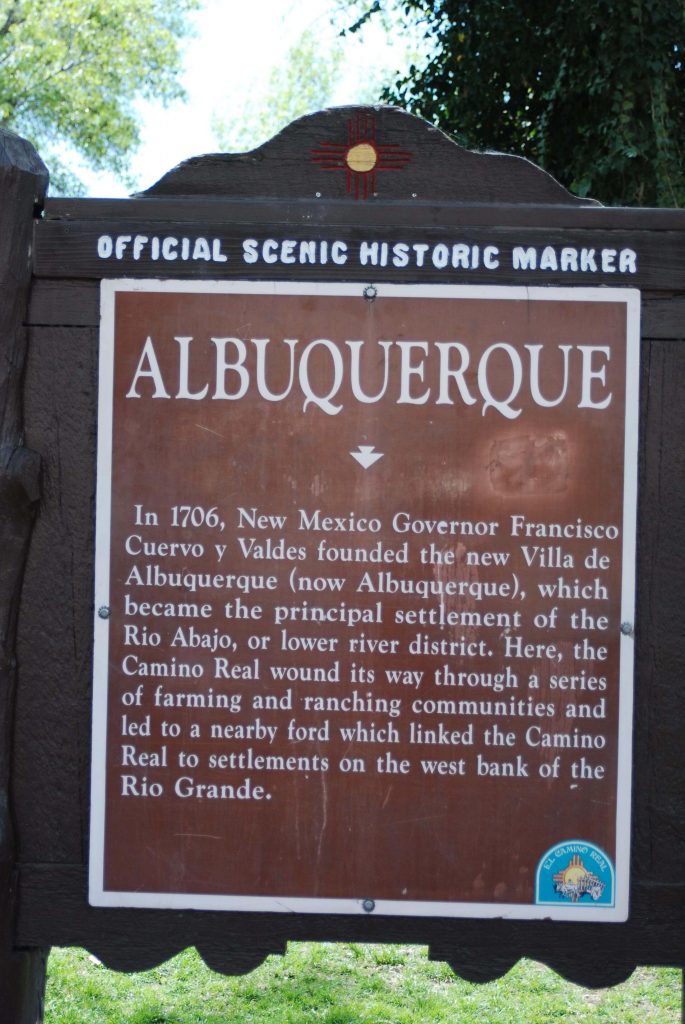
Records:
[[[354,139],[370,139],[379,157],[403,154],[401,167],[381,162],[363,180],[351,173],[350,125]],[[331,146],[342,148],[324,161],[322,150],[330,156]],[[35,161],[23,167],[18,178],[12,169],[6,179],[28,182],[31,207],[40,203],[44,176]],[[30,215],[22,214],[29,226]],[[20,243],[29,344],[23,375],[22,358],[15,364],[12,394],[23,380],[24,420],[13,421],[12,443],[38,453],[42,487],[38,501],[35,474],[32,484],[25,473],[25,497],[12,506],[25,536],[36,513],[26,560],[24,542],[16,547],[20,530],[10,531],[19,566],[7,599],[8,608],[18,607],[18,615],[8,612],[17,625],[17,670],[5,700],[16,826],[6,858],[8,877],[17,880],[12,948],[34,950],[35,963],[51,944],[84,945],[111,967],[139,970],[194,944],[210,966],[234,973],[291,939],[421,942],[466,978],[497,977],[528,955],[586,985],[615,983],[636,964],[682,966],[685,214],[603,209],[526,161],[468,153],[419,119],[381,108],[302,119],[255,154],[199,158],[130,200],[48,200],[33,228],[31,246]],[[299,262],[300,244],[311,260]],[[627,922],[88,905],[99,283],[123,276],[640,290]],[[14,279],[3,288],[19,294]],[[15,398],[10,406],[20,408]]]

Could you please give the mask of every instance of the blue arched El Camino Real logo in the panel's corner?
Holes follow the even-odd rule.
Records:
[[[614,872],[607,855],[584,840],[551,847],[536,872],[536,903],[613,906]]]

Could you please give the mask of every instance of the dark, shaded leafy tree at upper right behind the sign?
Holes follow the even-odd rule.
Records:
[[[605,204],[685,205],[683,0],[352,0],[432,55],[383,99]]]

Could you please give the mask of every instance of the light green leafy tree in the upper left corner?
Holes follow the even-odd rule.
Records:
[[[168,102],[180,42],[199,0],[5,0],[0,3],[0,124],[29,138],[53,188],[79,190],[59,154],[127,180],[139,141],[137,98]]]

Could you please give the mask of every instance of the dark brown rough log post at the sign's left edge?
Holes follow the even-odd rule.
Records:
[[[34,147],[0,131],[0,1008],[3,1024],[43,1017],[47,949],[14,946],[17,879],[10,798],[15,627],[40,460],[23,446],[22,382],[31,240],[47,171]]]

